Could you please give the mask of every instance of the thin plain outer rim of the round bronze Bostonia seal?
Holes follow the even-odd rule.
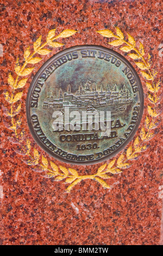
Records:
[[[40,139],[37,137],[36,132],[34,131],[33,125],[32,125],[32,120],[30,117],[30,97],[32,96],[33,93],[33,89],[35,87],[35,84],[37,83],[38,78],[41,76],[42,72],[44,72],[48,66],[50,66],[55,60],[57,60],[58,58],[64,56],[67,53],[70,53],[72,51],[80,51],[80,50],[86,50],[86,49],[92,49],[92,50],[99,50],[99,51],[103,51],[106,53],[110,53],[112,56],[117,57],[117,59],[120,59],[122,61],[122,63],[126,64],[126,66],[130,69],[131,73],[134,75],[135,80],[136,80],[136,84],[137,87],[139,88],[139,96],[140,96],[140,111],[139,111],[139,116],[138,119],[136,121],[136,125],[134,126],[134,129],[131,131],[131,135],[129,135],[129,137],[126,139],[126,141],[120,145],[120,147],[118,147],[118,149],[116,149],[115,151],[113,151],[109,156],[103,156],[101,157],[101,159],[94,159],[94,160],[89,160],[89,161],[85,161],[85,162],[77,162],[77,161],[71,161],[68,159],[64,159],[63,157],[60,157],[57,154],[53,154],[51,150],[49,150],[45,144],[43,144]],[[54,70],[55,71],[55,70]],[[30,84],[29,90],[28,90],[28,95],[27,95],[27,100],[26,100],[26,114],[27,114],[27,121],[28,121],[28,126],[29,126],[29,130],[32,133],[33,138],[35,139],[35,142],[44,150],[46,151],[46,153],[48,153],[49,155],[51,155],[52,157],[54,157],[55,159],[61,161],[61,162],[66,162],[66,163],[71,163],[71,164],[77,164],[77,165],[90,165],[93,163],[99,163],[99,162],[103,162],[105,160],[110,159],[111,157],[115,156],[117,153],[119,153],[124,147],[126,147],[126,145],[131,141],[131,139],[133,139],[137,128],[140,125],[140,121],[142,118],[142,113],[143,113],[143,89],[142,89],[142,84],[140,81],[139,76],[137,75],[135,69],[133,68],[133,66],[128,62],[127,59],[125,59],[121,54],[103,47],[103,46],[98,46],[98,45],[81,45],[81,46],[74,46],[74,47],[70,47],[67,48],[66,50],[60,51],[59,53],[55,54],[54,56],[52,56],[50,59],[47,60],[46,63],[44,63],[41,68],[39,69],[39,71],[37,71],[36,75],[34,76],[32,83]]]

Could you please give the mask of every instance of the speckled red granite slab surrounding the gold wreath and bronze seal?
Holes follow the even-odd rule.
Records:
[[[133,161],[130,168],[116,174],[104,189],[94,180],[83,180],[74,186],[70,193],[65,191],[67,184],[47,179],[34,172],[22,160],[28,157],[16,153],[23,146],[11,142],[8,137],[14,133],[3,124],[5,114],[2,105],[8,107],[4,92],[8,86],[8,75],[15,78],[14,65],[17,57],[23,62],[23,52],[40,36],[46,40],[50,29],[57,33],[64,29],[75,29],[78,33],[70,38],[59,39],[65,45],[54,49],[43,62],[53,54],[67,47],[96,44],[114,49],[126,57],[140,76],[144,94],[145,109],[137,131],[139,134],[147,114],[147,87],[134,61],[108,44],[109,39],[96,33],[100,29],[115,32],[118,26],[125,35],[133,35],[141,41],[145,52],[151,54],[152,69],[158,71],[155,81],[162,75],[162,57],[159,45],[163,43],[161,0],[152,1],[54,1],[1,0],[0,43],[3,57],[0,57],[1,70],[1,245],[159,245],[161,231],[161,199],[159,186],[162,170],[162,123],[161,89],[159,90],[157,111],[158,126],[155,136],[147,142],[148,148]],[[145,55],[148,58],[148,54]],[[55,161],[36,145],[30,135],[26,119],[26,96],[30,82],[43,62],[35,65],[29,76],[22,96],[22,129],[40,154]],[[127,147],[126,147],[127,149]],[[126,149],[121,151],[120,156]],[[109,161],[108,161],[109,163]],[[59,166],[71,167],[79,175],[97,172],[103,163],[92,166],[70,166],[55,161]],[[3,189],[3,191],[2,191]]]

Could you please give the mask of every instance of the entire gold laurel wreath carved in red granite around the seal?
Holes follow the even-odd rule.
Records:
[[[16,60],[15,64],[15,72],[17,74],[16,79],[12,77],[11,74],[8,76],[8,83],[10,87],[12,88],[12,92],[5,92],[5,100],[10,104],[10,110],[7,107],[3,106],[3,111],[11,119],[11,124],[9,124],[7,121],[4,120],[5,126],[7,126],[8,129],[11,129],[15,132],[15,137],[10,137],[11,142],[17,144],[17,142],[22,143],[25,135],[24,131],[20,132],[20,135],[18,136],[17,129],[21,125],[21,118],[18,117],[16,120],[16,115],[21,111],[21,103],[17,103],[20,101],[23,91],[17,92],[17,89],[21,89],[25,86],[28,78],[21,78],[23,76],[28,76],[34,69],[34,67],[26,68],[28,64],[36,64],[42,60],[41,57],[34,57],[35,54],[41,55],[47,55],[51,52],[51,50],[48,50],[47,48],[44,48],[46,45],[50,47],[60,47],[63,44],[60,42],[54,41],[58,38],[66,38],[68,36],[72,36],[77,31],[66,29],[62,31],[59,35],[55,36],[55,29],[52,29],[49,31],[46,42],[41,45],[41,38],[40,37],[34,42],[33,53],[30,53],[30,47],[28,46],[27,49],[24,51],[24,63],[21,66],[19,59]],[[103,180],[103,179],[110,179],[112,178],[112,175],[118,174],[122,172],[122,169],[129,168],[131,166],[131,162],[128,162],[130,160],[134,160],[137,156],[140,155],[140,153],[143,150],[147,149],[147,145],[142,145],[143,143],[147,142],[149,139],[151,139],[154,136],[154,133],[151,132],[152,129],[156,126],[155,119],[158,116],[158,113],[156,113],[156,103],[158,102],[158,97],[156,93],[158,92],[160,88],[160,81],[158,83],[154,83],[154,77],[156,75],[155,71],[151,71],[151,56],[148,54],[148,62],[146,62],[145,58],[143,57],[145,55],[145,50],[140,42],[139,44],[139,50],[136,48],[136,42],[133,36],[128,34],[128,41],[124,40],[124,35],[120,28],[116,27],[116,33],[117,35],[114,35],[111,31],[108,29],[104,29],[101,31],[97,31],[99,34],[107,37],[107,38],[116,38],[117,40],[114,40],[112,42],[109,42],[112,46],[120,46],[125,44],[120,48],[123,52],[130,52],[131,50],[134,51],[134,53],[128,53],[128,56],[132,59],[141,59],[141,62],[135,62],[136,65],[141,69],[141,73],[143,77],[148,80],[146,81],[146,86],[148,88],[148,100],[152,103],[153,106],[148,105],[148,115],[146,115],[145,118],[145,126],[141,128],[140,136],[137,136],[134,140],[133,145],[130,145],[128,149],[126,150],[126,153],[121,154],[118,159],[111,160],[108,163],[103,164],[101,167],[98,168],[96,174],[92,175],[78,175],[77,170],[72,168],[65,168],[63,166],[57,166],[52,161],[48,161],[46,157],[39,154],[39,151],[37,151],[35,148],[31,147],[31,143],[29,139],[26,139],[25,145],[21,144],[21,148],[15,149],[15,151],[18,154],[28,156],[30,160],[23,160],[26,162],[29,166],[32,166],[32,169],[35,172],[45,173],[43,176],[46,178],[54,178],[54,181],[61,181],[65,180],[67,184],[70,184],[66,190],[67,192],[71,191],[71,188],[74,185],[77,185],[80,181],[85,179],[92,179],[98,181],[104,188],[110,188],[110,186]],[[143,70],[143,71],[142,71]],[[144,71],[146,70],[146,72]],[[149,81],[152,81],[149,82]],[[151,120],[152,119],[152,120]],[[108,173],[111,173],[111,176],[108,175]]]

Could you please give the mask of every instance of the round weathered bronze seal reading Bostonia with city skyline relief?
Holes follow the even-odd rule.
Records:
[[[115,51],[83,45],[61,51],[35,75],[27,120],[49,155],[73,164],[102,162],[133,138],[143,90],[133,66]]]

